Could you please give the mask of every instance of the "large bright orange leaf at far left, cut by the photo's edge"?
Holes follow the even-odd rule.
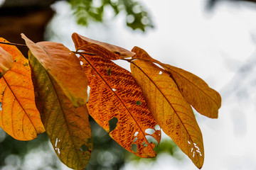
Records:
[[[6,42],[0,38],[1,42]],[[11,45],[0,46],[12,55],[11,69],[0,79],[0,125],[16,140],[33,140],[45,132],[36,108],[28,60]]]

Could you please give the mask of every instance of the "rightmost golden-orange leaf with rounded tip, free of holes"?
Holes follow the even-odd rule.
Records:
[[[210,89],[205,81],[183,69],[154,60],[139,47],[134,47],[132,51],[137,53],[133,59],[155,62],[160,64],[161,67],[164,67],[164,69],[169,72],[169,76],[174,79],[183,97],[198,113],[206,115],[208,118],[218,118],[218,109],[221,106],[220,94]]]

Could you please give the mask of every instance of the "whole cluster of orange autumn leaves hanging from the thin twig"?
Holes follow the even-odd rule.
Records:
[[[119,145],[142,158],[156,157],[161,128],[201,169],[203,137],[191,106],[218,118],[221,102],[202,79],[139,47],[128,51],[74,33],[72,52],[58,42],[21,37],[28,60],[0,39],[0,125],[9,135],[33,140],[46,131],[61,162],[85,169],[92,152],[90,114]],[[129,62],[132,73],[112,60]]]

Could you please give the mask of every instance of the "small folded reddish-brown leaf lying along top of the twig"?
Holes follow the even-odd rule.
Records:
[[[125,50],[122,47],[116,45],[110,45],[106,42],[100,42],[97,40],[91,40],[83,37],[78,33],[73,33],[73,42],[75,43],[75,49],[83,50],[84,52],[92,52],[94,55],[105,57],[110,60],[118,60],[125,57],[132,57],[135,55],[134,52]]]

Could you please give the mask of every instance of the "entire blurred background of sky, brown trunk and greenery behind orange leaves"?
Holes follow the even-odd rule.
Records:
[[[203,133],[205,170],[256,169],[256,3],[254,0],[0,0],[0,37],[24,43],[61,42],[72,33],[186,69],[222,96],[219,118],[196,114]],[[20,48],[24,55],[27,49]],[[129,70],[126,62],[116,62]],[[154,159],[139,159],[90,119],[94,149],[87,169],[197,169],[163,135]],[[0,129],[1,170],[68,169],[46,134],[30,142]]]

